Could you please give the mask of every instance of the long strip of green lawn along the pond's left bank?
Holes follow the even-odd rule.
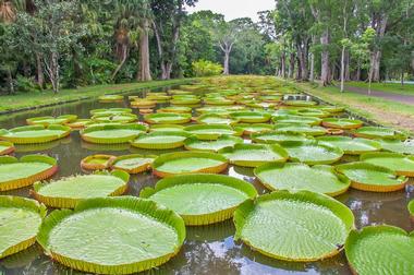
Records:
[[[0,111],[11,111],[27,107],[39,107],[69,100],[81,100],[98,97],[104,94],[126,93],[139,88],[156,88],[161,86],[178,85],[188,83],[191,81],[191,79],[180,79],[169,81],[150,81],[126,84],[86,86],[75,89],[62,89],[57,95],[53,95],[51,91],[17,93],[16,95],[0,96]]]

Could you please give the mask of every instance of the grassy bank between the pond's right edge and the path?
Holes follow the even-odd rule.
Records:
[[[354,93],[341,93],[334,86],[321,87],[312,83],[295,83],[295,85],[310,95],[343,106],[376,123],[402,130],[411,135],[414,134],[414,108],[412,105]]]

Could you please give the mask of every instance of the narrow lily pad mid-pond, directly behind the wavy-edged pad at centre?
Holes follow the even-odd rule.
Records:
[[[199,140],[217,140],[221,135],[242,135],[242,130],[223,124],[188,125],[184,128]]]

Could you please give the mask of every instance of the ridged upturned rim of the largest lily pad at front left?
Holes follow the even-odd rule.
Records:
[[[158,220],[159,223],[167,224],[176,231],[178,240],[174,251],[162,256],[146,260],[143,262],[126,263],[122,265],[101,265],[96,263],[90,263],[82,260],[70,259],[64,255],[60,255],[53,252],[53,249],[48,246],[48,239],[52,229],[61,223],[63,219],[71,215],[76,215],[85,211],[94,208],[120,208],[131,212],[137,212],[148,218]],[[75,268],[82,270],[88,273],[100,273],[100,274],[131,274],[145,270],[149,270],[168,262],[172,256],[174,256],[181,249],[185,240],[185,224],[184,220],[162,205],[159,205],[153,201],[138,199],[134,196],[122,196],[122,198],[99,198],[89,199],[80,202],[76,207],[71,210],[58,210],[50,213],[44,220],[39,234],[37,235],[37,242],[44,248],[46,254],[50,255],[58,262]]]

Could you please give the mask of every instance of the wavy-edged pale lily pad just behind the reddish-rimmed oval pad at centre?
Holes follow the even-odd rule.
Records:
[[[232,135],[222,135],[216,141],[203,141],[192,136],[185,140],[184,146],[186,150],[218,152],[221,148],[234,146],[238,143],[243,143],[243,139]]]

